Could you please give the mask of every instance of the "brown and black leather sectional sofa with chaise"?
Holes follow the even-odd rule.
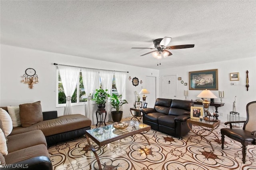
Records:
[[[7,107],[1,107],[8,112]],[[84,115],[57,116],[57,111],[43,113],[43,121],[29,127],[14,127],[7,136],[8,154],[3,170],[52,170],[47,146],[85,134],[92,121]]]

